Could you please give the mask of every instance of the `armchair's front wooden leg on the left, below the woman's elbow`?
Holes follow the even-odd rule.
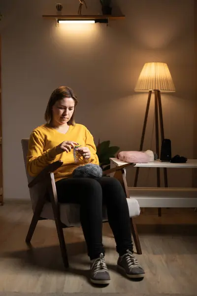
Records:
[[[59,204],[58,204],[58,199],[57,199],[57,191],[56,191],[54,175],[52,173],[51,173],[51,181],[49,182],[49,194],[50,194],[53,214],[54,214],[54,218],[55,218],[56,229],[57,229],[57,233],[58,233],[58,239],[59,239],[59,243],[60,243],[60,250],[61,250],[61,254],[62,254],[63,263],[64,263],[65,268],[68,268],[69,263],[68,263],[68,257],[67,257],[67,251],[66,251],[64,231],[63,231],[62,222],[60,219],[60,211],[59,211]]]

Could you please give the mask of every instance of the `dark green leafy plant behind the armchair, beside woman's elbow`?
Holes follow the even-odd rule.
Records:
[[[115,154],[120,148],[118,146],[111,146],[110,141],[103,141],[97,146],[97,155],[99,157],[99,165],[103,171],[110,169],[109,158],[115,157]]]

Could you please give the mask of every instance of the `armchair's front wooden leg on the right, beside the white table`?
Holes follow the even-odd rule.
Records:
[[[120,171],[116,171],[115,174],[114,174],[114,178],[116,178],[116,179],[118,179],[120,181],[120,183],[123,186],[123,189],[124,189],[124,191],[126,193],[127,198],[130,198],[129,189],[128,189],[128,185],[127,185],[127,180],[126,180],[126,175],[125,175],[125,170],[122,169]],[[132,236],[133,236],[133,240],[134,240],[134,243],[135,243],[135,248],[136,248],[137,254],[142,254],[136,224],[135,224],[133,218],[131,218],[130,220],[131,220],[131,233],[132,233]]]

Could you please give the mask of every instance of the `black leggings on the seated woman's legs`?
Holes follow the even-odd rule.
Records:
[[[80,204],[80,220],[90,259],[104,254],[102,245],[102,204],[107,207],[116,250],[123,255],[133,251],[129,208],[120,182],[112,177],[69,178],[56,182],[60,203]]]

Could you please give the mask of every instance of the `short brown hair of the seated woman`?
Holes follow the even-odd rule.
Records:
[[[72,98],[74,100],[74,107],[76,107],[78,101],[77,101],[77,97],[74,94],[73,90],[70,87],[67,86],[59,86],[58,88],[56,88],[49,99],[49,102],[47,104],[46,107],[46,111],[44,114],[44,119],[47,123],[50,123],[52,118],[53,118],[53,112],[52,112],[52,108],[55,105],[55,103],[59,100],[62,100],[64,98]],[[75,113],[75,108],[74,108],[74,112],[72,114],[72,117],[70,118],[70,120],[67,122],[68,125],[75,125],[75,121],[74,121],[74,113]]]

